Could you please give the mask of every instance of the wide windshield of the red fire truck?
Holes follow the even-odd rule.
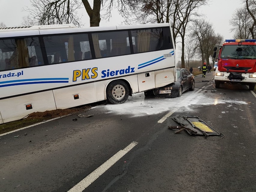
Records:
[[[256,45],[225,45],[221,51],[222,59],[256,59]]]

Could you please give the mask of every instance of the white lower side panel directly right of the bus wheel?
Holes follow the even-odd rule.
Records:
[[[139,92],[155,88],[155,74],[154,72],[141,73],[137,75]]]

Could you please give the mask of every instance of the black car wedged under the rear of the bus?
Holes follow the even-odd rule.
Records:
[[[194,75],[191,74],[187,69],[177,69],[178,80],[174,83],[166,85],[164,87],[145,91],[145,96],[149,97],[180,97],[181,94],[190,90],[193,91],[195,88]]]

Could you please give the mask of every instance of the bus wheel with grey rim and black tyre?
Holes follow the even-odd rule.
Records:
[[[107,102],[121,104],[128,99],[129,87],[121,80],[112,81],[107,87]]]

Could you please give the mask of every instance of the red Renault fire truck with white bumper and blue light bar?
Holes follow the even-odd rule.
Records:
[[[217,47],[214,47],[213,58]],[[244,84],[254,90],[256,84],[256,40],[226,39],[219,48],[218,64],[215,71],[215,87],[225,82]]]

